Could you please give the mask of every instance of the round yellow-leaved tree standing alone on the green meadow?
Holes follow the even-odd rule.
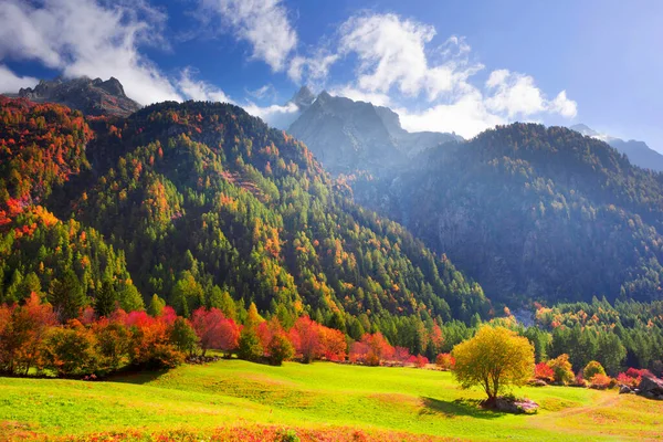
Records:
[[[476,336],[453,348],[454,377],[462,388],[480,386],[493,406],[497,394],[525,385],[534,372],[534,347],[504,327],[483,326]]]

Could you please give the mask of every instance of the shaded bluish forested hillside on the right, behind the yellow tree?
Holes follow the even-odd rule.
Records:
[[[430,149],[355,197],[446,253],[488,296],[661,299],[663,177],[560,127],[514,124]]]

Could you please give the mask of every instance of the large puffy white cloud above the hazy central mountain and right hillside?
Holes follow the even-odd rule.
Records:
[[[435,48],[435,34],[433,27],[397,14],[350,18],[339,28],[339,53],[357,57],[357,76],[333,93],[391,105],[409,130],[456,131],[464,137],[516,118],[576,116],[577,104],[566,91],[548,99],[526,74],[497,70],[484,85],[474,85],[472,77],[484,66],[472,61],[465,39],[452,35]],[[414,108],[404,105],[413,101]]]

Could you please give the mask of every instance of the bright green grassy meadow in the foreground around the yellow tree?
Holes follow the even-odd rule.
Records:
[[[128,430],[199,440],[219,428],[225,439],[235,427],[255,440],[275,428],[302,440],[663,440],[661,402],[564,387],[515,393],[539,412],[481,410],[482,393],[460,390],[449,372],[327,362],[223,360],[104,382],[0,378],[0,440]]]

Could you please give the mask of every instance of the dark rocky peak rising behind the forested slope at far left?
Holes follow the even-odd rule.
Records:
[[[34,88],[21,88],[19,96],[38,103],[59,103],[78,109],[86,115],[113,115],[126,117],[140,108],[127,97],[122,83],[87,77],[41,81]]]

